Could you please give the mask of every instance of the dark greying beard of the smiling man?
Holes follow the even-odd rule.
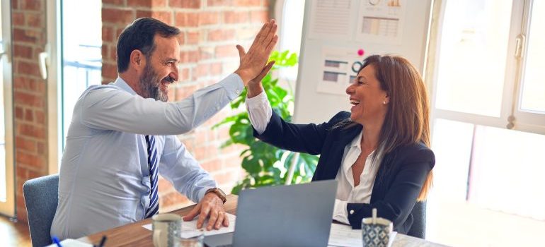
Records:
[[[161,90],[161,79],[157,76],[154,69],[150,64],[146,64],[144,67],[144,73],[140,77],[140,90],[142,91],[142,97],[154,98],[155,100],[161,100],[162,102],[168,101],[168,91]],[[164,78],[168,82],[173,82],[174,79],[171,76]]]

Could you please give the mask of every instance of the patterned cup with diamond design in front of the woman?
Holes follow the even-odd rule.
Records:
[[[388,247],[393,229],[394,224],[388,219],[376,218],[374,224],[372,217],[362,219],[363,246]]]

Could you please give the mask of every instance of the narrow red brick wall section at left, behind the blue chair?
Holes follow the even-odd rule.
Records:
[[[46,83],[38,54],[46,43],[45,1],[11,1],[16,209],[26,221],[23,183],[47,174]]]

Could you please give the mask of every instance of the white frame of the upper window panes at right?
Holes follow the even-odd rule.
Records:
[[[522,66],[524,65],[524,54],[526,52],[526,40],[520,39],[520,35],[526,35],[529,28],[529,11],[533,0],[512,1],[512,12],[510,21],[509,40],[507,41],[507,59],[505,64],[505,75],[503,82],[503,97],[500,107],[500,116],[483,116],[480,114],[471,114],[466,112],[457,112],[447,109],[437,109],[437,85],[439,67],[439,51],[441,46],[442,23],[444,21],[444,11],[448,0],[436,0],[433,10],[430,28],[430,43],[428,44],[428,63],[425,68],[425,77],[428,80],[430,88],[430,100],[432,105],[431,120],[447,119],[474,123],[483,126],[493,126],[497,128],[508,128],[517,131],[526,131],[532,133],[545,134],[545,114],[529,113],[520,111],[520,102],[522,97],[521,81],[524,76]],[[436,12],[437,11],[437,12]],[[517,46],[517,42],[522,45]],[[518,49],[518,51],[517,51]],[[520,56],[516,56],[517,52]],[[510,119],[515,118],[512,123]]]

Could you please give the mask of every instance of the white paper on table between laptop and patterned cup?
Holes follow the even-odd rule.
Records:
[[[396,234],[396,231],[392,231],[388,246],[394,243]],[[362,230],[353,230],[350,226],[333,223],[329,232],[328,246],[362,247]]]

